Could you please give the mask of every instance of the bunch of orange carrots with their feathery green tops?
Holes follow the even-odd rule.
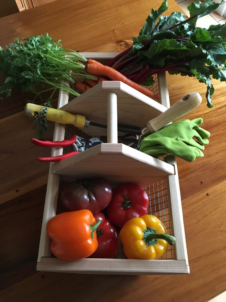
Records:
[[[79,96],[80,92],[86,92],[91,86],[107,80],[124,82],[143,94],[158,99],[149,89],[131,81],[115,69],[86,59],[74,50],[62,48],[61,40],[55,43],[48,33],[24,38],[24,42],[16,38],[14,42],[6,46],[6,49],[0,47],[0,73],[4,78],[0,85],[0,99],[2,95],[9,97],[13,88],[22,92],[34,92],[36,97],[41,97],[44,91],[52,91],[45,102],[45,106],[51,107],[56,89]],[[86,82],[82,82],[84,79]],[[44,90],[39,92],[37,86]]]

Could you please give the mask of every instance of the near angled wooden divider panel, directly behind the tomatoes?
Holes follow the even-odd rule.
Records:
[[[67,179],[99,176],[114,185],[135,182],[145,187],[174,174],[174,166],[121,143],[102,143],[53,163],[52,173]]]

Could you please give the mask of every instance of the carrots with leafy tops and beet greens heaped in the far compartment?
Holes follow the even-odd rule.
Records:
[[[55,43],[48,33],[23,38],[24,41],[15,38],[5,49],[0,47],[0,73],[4,78],[0,99],[2,95],[10,96],[13,88],[34,92],[39,97],[43,91],[50,91],[45,105],[51,107],[52,96],[58,88],[78,96],[101,81],[113,80],[158,100],[158,96],[144,86],[154,83],[153,75],[157,72],[168,71],[196,77],[205,83],[207,106],[212,108],[211,79],[226,81],[226,25],[211,25],[206,29],[196,27],[196,21],[225,1],[192,2],[188,6],[190,17],[186,18],[181,12],[161,16],[168,9],[164,0],[158,10],[151,9],[138,37],[132,39],[132,47],[111,59],[107,66],[64,49],[61,40]],[[73,86],[69,87],[64,81]],[[44,90],[37,91],[37,85]]]

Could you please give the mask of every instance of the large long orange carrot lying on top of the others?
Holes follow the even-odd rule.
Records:
[[[86,71],[93,75],[95,74],[99,76],[104,76],[108,79],[111,79],[112,81],[121,81],[129,85],[130,87],[136,89],[137,91],[143,93],[144,95],[148,96],[149,98],[154,98],[156,100],[159,99],[157,95],[155,95],[152,91],[150,91],[146,87],[131,81],[126,76],[122,75],[120,72],[109,66],[102,65],[100,63],[99,64],[89,63],[86,65]]]

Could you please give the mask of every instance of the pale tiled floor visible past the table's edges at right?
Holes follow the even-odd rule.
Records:
[[[177,4],[180,6],[180,8],[183,9],[185,14],[187,16],[190,15],[187,7],[190,5],[192,0],[175,0]],[[198,27],[202,28],[208,28],[209,25],[211,24],[224,24],[226,22],[226,17],[225,16],[220,16],[216,11],[213,12],[212,14],[209,14],[205,17],[202,17],[197,20],[196,25]],[[226,290],[226,289],[225,289]],[[218,295],[217,297],[213,298],[212,300],[208,302],[225,302],[226,301],[226,291],[224,291],[222,294]]]

